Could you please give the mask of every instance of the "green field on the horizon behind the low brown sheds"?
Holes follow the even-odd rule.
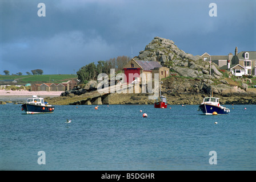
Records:
[[[61,83],[77,78],[77,75],[0,75],[0,80],[16,80],[17,85],[40,84],[40,83]]]

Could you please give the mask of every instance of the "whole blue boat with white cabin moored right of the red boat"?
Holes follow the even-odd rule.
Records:
[[[229,114],[230,110],[219,104],[219,98],[217,97],[205,97],[203,102],[198,107],[198,111],[202,111],[205,115],[213,114]]]

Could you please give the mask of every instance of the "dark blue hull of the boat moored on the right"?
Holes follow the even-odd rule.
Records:
[[[199,111],[202,111],[203,114],[206,115],[212,115],[213,112],[216,112],[217,114],[229,114],[230,110],[226,107],[222,106],[215,106],[215,105],[209,105],[209,104],[201,104],[199,105]]]

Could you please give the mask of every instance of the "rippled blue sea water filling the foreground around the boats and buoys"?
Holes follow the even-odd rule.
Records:
[[[26,115],[21,105],[0,105],[0,169],[256,169],[255,105],[227,105],[229,115],[201,115],[198,105],[94,107]],[[38,164],[38,151],[45,152],[45,164]],[[210,151],[217,164],[209,163]]]

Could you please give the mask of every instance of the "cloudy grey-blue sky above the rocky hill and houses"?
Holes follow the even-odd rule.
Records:
[[[0,75],[74,74],[155,36],[192,55],[256,51],[255,34],[256,0],[1,0]]]

